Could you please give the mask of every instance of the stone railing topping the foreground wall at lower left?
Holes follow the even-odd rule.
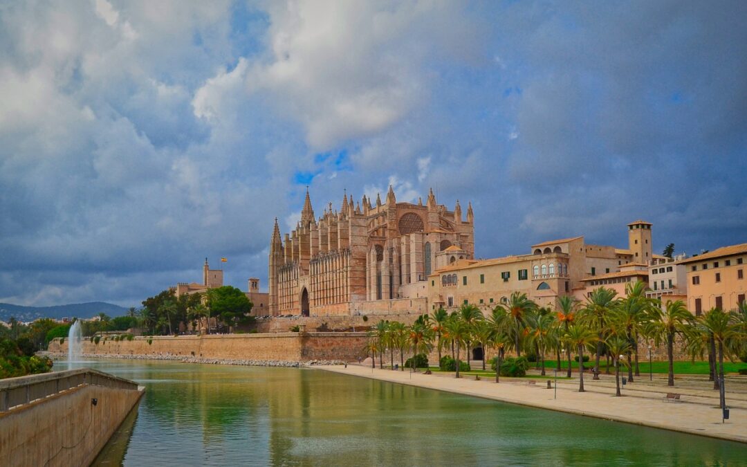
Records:
[[[91,368],[7,378],[0,380],[0,412],[7,412],[15,406],[48,398],[85,384],[137,390],[137,383],[133,381]]]

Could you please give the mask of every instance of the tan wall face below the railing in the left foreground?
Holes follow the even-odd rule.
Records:
[[[84,385],[0,413],[0,466],[90,465],[141,394]]]

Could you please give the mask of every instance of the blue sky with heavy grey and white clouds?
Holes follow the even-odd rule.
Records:
[[[475,213],[476,256],[747,242],[745,1],[0,0],[0,302],[267,288],[343,194]]]

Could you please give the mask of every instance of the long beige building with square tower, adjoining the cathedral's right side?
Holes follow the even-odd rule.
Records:
[[[579,236],[534,244],[527,255],[456,259],[429,276],[429,307],[453,311],[472,303],[487,311],[515,291],[555,306],[558,297],[586,297],[601,285],[624,291],[627,282],[648,281],[648,263],[662,258],[651,251],[651,226],[644,220],[627,224],[627,249],[586,244]]]

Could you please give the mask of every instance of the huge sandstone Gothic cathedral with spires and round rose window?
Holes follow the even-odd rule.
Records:
[[[420,297],[438,267],[474,259],[474,214],[462,219],[438,205],[433,190],[423,204],[397,202],[389,187],[385,202],[363,197],[353,205],[344,194],[314,216],[309,190],[297,227],[281,236],[275,220],[270,241],[270,315],[351,315],[382,300]],[[424,299],[421,299],[424,300]]]

